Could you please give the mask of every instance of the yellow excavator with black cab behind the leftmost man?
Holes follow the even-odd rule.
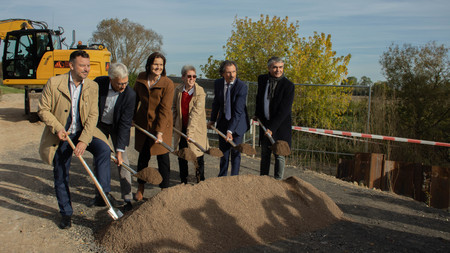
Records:
[[[47,23],[29,19],[0,20],[0,39],[4,41],[2,55],[3,85],[25,88],[25,113],[37,112],[40,93],[47,80],[67,73],[69,57],[74,50],[85,50],[91,60],[89,78],[107,75],[111,53],[102,44],[75,46],[73,41],[63,49],[64,30],[48,28]],[[0,41],[0,42],[1,42]]]

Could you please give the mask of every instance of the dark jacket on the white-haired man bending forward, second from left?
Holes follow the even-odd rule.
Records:
[[[99,76],[94,79],[98,83],[98,122],[101,122],[103,111],[105,110],[106,98],[108,97],[110,78],[109,76]],[[117,136],[116,149],[125,150],[130,143],[130,128],[134,115],[134,104],[136,103],[136,93],[129,86],[122,93],[119,93],[113,114],[113,132]],[[111,134],[111,133],[110,133]]]

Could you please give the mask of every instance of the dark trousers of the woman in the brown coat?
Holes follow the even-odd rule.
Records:
[[[144,142],[144,146],[139,152],[138,157],[138,168],[137,171],[141,171],[142,169],[148,167],[148,162],[150,161],[150,139],[146,138]],[[161,188],[168,188],[170,183],[170,158],[169,153],[165,153],[163,155],[157,155],[156,159],[158,161],[158,170],[161,174],[163,180],[159,184]],[[146,182],[142,179],[138,179],[139,184],[145,184]]]

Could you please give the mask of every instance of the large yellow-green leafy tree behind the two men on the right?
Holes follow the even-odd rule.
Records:
[[[267,73],[271,56],[284,58],[285,74],[294,83],[339,85],[347,75],[351,56],[336,56],[331,35],[314,33],[300,38],[298,21],[290,23],[288,17],[268,15],[256,21],[235,17],[233,27],[223,48],[225,59],[236,61],[242,80],[256,81],[258,75]],[[218,77],[218,63],[210,56],[208,63],[201,66],[207,78]],[[296,93],[295,123],[322,127],[341,122],[351,96],[348,90],[317,87],[297,87]]]

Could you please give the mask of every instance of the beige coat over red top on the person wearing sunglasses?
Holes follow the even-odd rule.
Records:
[[[182,123],[182,115],[181,115],[181,97],[183,93],[184,84],[179,85],[175,89],[175,95],[173,99],[173,124],[174,127],[181,131],[183,127]],[[195,142],[200,144],[204,149],[209,149],[208,137],[207,137],[207,129],[206,129],[206,112],[205,112],[205,99],[206,93],[203,88],[195,83],[194,86],[194,94],[192,95],[192,99],[189,103],[189,120],[186,135],[189,138],[192,138]],[[180,134],[174,132],[173,145],[175,148],[178,148],[178,144],[180,142],[180,138],[182,137]],[[189,149],[192,150],[195,155],[201,156],[203,152],[195,146],[193,143],[188,143]]]

